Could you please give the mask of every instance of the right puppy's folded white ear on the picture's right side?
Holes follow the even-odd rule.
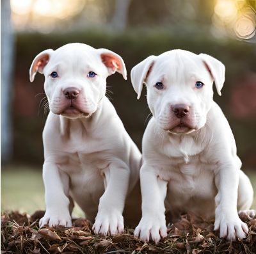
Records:
[[[212,58],[207,54],[200,54],[199,55],[202,60],[204,61],[204,65],[209,70],[212,78],[214,79],[214,83],[216,86],[216,90],[218,95],[221,95],[221,88],[223,88],[223,84],[225,81],[225,66],[221,61]]]

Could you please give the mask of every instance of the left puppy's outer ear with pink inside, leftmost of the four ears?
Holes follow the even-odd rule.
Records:
[[[34,81],[37,71],[41,74],[43,73],[44,67],[45,65],[47,65],[52,52],[53,52],[52,49],[46,49],[45,51],[42,51],[40,54],[38,54],[35,57],[29,69],[30,82]]]

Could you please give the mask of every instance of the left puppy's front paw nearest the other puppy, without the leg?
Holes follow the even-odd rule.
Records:
[[[124,217],[122,214],[98,213],[92,228],[96,235],[115,235],[124,233]]]

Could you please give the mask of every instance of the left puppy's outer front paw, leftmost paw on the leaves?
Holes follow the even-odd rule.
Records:
[[[45,216],[40,219],[39,226],[42,228],[42,226],[72,226],[71,217],[69,214],[66,216],[64,214],[60,215],[51,215],[45,213]]]

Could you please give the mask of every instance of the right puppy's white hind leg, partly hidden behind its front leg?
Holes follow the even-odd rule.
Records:
[[[243,171],[239,172],[239,186],[237,198],[237,210],[239,217],[255,218],[255,210],[250,209],[253,202],[253,188],[250,179],[244,174]]]

